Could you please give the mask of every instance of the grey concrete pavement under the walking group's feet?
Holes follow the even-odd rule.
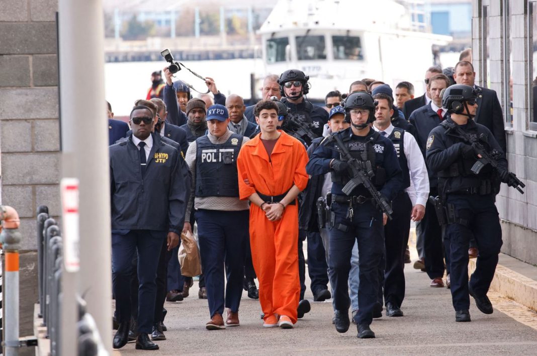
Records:
[[[416,259],[415,251],[413,260]],[[307,273],[306,273],[307,274]],[[358,339],[354,324],[344,334],[336,332],[331,323],[331,300],[311,302],[306,314],[292,330],[265,329],[259,318],[259,303],[243,293],[240,327],[207,331],[209,321],[207,301],[198,299],[197,283],[182,302],[166,302],[168,315],[165,324],[168,338],[158,342],[155,355],[203,354],[535,354],[537,330],[518,322],[537,321],[537,313],[507,300],[497,293],[489,296],[495,306],[494,314],[482,314],[471,300],[470,323],[456,323],[447,288],[431,288],[426,273],[405,265],[407,296],[403,302],[403,317],[387,317],[373,321],[375,339]],[[497,306],[500,308],[498,309]],[[507,314],[504,314],[502,310]],[[513,317],[511,317],[511,316]],[[121,349],[121,355],[149,353],[134,350],[134,343]]]

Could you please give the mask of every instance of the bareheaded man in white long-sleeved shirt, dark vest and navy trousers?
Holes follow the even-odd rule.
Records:
[[[399,164],[403,171],[403,186],[392,205],[393,219],[384,226],[385,262],[380,266],[380,278],[384,281],[384,303],[387,316],[403,316],[401,304],[405,295],[404,254],[408,244],[410,219],[419,221],[425,214],[425,203],[429,198],[429,177],[422,152],[410,132],[394,127],[393,98],[387,94],[373,95],[378,101],[373,128],[388,137],[395,146]],[[412,181],[412,186],[410,186]],[[382,305],[382,288],[379,288]]]

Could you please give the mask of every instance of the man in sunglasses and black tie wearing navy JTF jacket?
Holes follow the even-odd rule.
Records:
[[[137,251],[141,267],[136,348],[157,350],[148,336],[154,320],[157,265],[163,241],[168,240],[169,250],[179,243],[188,192],[179,151],[151,132],[151,109],[134,107],[130,122],[132,135],[110,146],[112,281],[120,323],[113,346],[123,347],[128,340],[129,277]]]

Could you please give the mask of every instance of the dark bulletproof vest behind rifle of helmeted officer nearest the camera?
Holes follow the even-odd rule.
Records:
[[[360,165],[368,171],[368,174],[372,172],[371,182],[380,187],[386,182],[386,171],[382,167],[376,166],[376,154],[374,145],[379,137],[378,132],[374,132],[365,141],[352,140],[350,137],[343,138],[343,143],[347,145],[347,150],[351,153],[351,157],[360,161]],[[340,160],[346,161],[341,157]],[[347,184],[353,177],[349,172],[339,173],[332,170],[331,172],[332,182],[340,183],[343,186]]]

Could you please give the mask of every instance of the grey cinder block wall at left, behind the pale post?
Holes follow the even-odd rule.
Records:
[[[2,203],[19,212],[23,250],[36,248],[37,206],[60,213],[56,12],[57,0],[0,6]]]

